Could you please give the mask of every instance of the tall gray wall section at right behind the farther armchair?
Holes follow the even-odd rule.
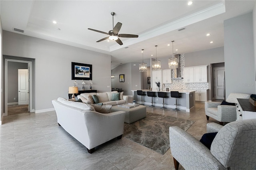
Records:
[[[255,93],[252,12],[224,21],[226,97]]]

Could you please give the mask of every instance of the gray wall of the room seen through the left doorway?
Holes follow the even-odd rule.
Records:
[[[18,102],[18,69],[28,69],[28,63],[8,61],[8,103]]]

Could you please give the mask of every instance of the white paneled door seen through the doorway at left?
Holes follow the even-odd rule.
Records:
[[[18,69],[18,104],[28,105],[28,69]]]

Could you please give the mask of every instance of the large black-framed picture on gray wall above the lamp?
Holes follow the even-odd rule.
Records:
[[[92,65],[83,63],[71,63],[72,80],[92,80]]]

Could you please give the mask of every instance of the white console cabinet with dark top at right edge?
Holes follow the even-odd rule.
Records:
[[[236,120],[256,119],[256,107],[250,103],[249,99],[237,99]]]

